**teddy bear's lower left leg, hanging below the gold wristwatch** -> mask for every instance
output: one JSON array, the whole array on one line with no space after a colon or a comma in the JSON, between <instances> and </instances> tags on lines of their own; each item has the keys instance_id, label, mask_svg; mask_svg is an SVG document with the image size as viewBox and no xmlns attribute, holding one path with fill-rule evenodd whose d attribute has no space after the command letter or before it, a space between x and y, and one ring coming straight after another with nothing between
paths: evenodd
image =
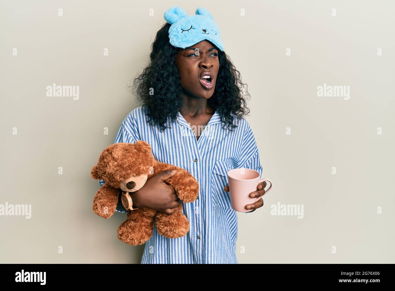
<instances>
[{"instance_id":1,"label":"teddy bear's lower left leg, hanging below the gold wristwatch","mask_svg":"<svg viewBox=\"0 0 395 291\"><path fill-rule=\"evenodd\" d=\"M142 245L152 236L156 211L144 208L128 211L126 220L118 227L118 238L130 245Z\"/></svg>"}]
</instances>

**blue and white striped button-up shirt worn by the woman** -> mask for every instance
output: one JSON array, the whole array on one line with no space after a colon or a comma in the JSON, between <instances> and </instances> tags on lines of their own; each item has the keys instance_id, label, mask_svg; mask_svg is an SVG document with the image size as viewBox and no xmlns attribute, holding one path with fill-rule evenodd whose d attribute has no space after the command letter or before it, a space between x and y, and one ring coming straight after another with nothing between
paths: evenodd
<instances>
[{"instance_id":1,"label":"blue and white striped button-up shirt worn by the woman","mask_svg":"<svg viewBox=\"0 0 395 291\"><path fill-rule=\"evenodd\" d=\"M237 264L237 211L232 209L229 193L223 189L230 169L250 168L262 175L250 125L242 118L236 120L235 131L222 128L224 123L216 111L197 140L180 112L177 122L167 120L171 129L163 132L147 119L145 107L132 110L123 120L114 143L146 141L156 160L186 169L196 178L199 196L195 202L181 202L182 213L190 222L188 234L170 239L159 235L154 226L141 263ZM103 183L100 181L100 186Z\"/></svg>"}]
</instances>

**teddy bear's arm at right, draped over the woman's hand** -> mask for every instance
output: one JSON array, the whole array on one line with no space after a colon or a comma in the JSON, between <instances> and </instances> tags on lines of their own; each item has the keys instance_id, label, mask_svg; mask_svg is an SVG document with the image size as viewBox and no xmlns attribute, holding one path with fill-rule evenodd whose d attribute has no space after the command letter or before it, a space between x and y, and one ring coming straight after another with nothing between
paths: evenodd
<instances>
[{"instance_id":1,"label":"teddy bear's arm at right, draped over the woman's hand","mask_svg":"<svg viewBox=\"0 0 395 291\"><path fill-rule=\"evenodd\" d=\"M174 187L178 198L180 198L182 202L194 202L199 194L199 183L196 181L195 177L185 169L176 167L175 165L161 163L158 161L154 162L155 175L163 171L173 169L176 169L177 173L166 179L166 182Z\"/></svg>"}]
</instances>

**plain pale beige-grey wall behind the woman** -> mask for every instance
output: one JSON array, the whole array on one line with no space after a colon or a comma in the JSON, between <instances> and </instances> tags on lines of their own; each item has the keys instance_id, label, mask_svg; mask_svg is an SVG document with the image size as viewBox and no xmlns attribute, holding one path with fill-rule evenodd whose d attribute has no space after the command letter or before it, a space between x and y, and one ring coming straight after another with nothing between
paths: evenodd
<instances>
[{"instance_id":1,"label":"plain pale beige-grey wall behind the woman","mask_svg":"<svg viewBox=\"0 0 395 291\"><path fill-rule=\"evenodd\" d=\"M174 5L211 12L252 96L274 185L238 213L239 263L393 263L392 1L2 1L0 204L31 204L32 218L0 216L0 261L140 262L144 246L117 238L126 214L94 215L90 169L139 106L126 86ZM53 83L79 86L79 100L47 97ZM317 97L324 83L350 86L350 99ZM303 204L303 219L271 215L278 202Z\"/></svg>"}]
</instances>

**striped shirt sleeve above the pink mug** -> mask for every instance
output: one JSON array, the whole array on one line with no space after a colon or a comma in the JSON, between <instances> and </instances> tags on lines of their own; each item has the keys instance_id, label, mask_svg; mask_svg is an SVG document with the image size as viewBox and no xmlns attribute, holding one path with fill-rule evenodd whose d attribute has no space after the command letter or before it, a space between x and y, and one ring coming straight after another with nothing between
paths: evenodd
<instances>
[{"instance_id":1,"label":"striped shirt sleeve above the pink mug","mask_svg":"<svg viewBox=\"0 0 395 291\"><path fill-rule=\"evenodd\" d=\"M259 155L259 150L258 146L255 141L254 134L252 133L252 129L250 127L250 124L246 122L246 129L243 135L243 144L241 146L241 159L239 162L239 168L245 168L245 169L254 169L259 172L260 176L259 178L261 179L262 177L262 165L261 165L261 160L260 160L260 155ZM244 213L250 213L249 212L244 212Z\"/></svg>"}]
</instances>

